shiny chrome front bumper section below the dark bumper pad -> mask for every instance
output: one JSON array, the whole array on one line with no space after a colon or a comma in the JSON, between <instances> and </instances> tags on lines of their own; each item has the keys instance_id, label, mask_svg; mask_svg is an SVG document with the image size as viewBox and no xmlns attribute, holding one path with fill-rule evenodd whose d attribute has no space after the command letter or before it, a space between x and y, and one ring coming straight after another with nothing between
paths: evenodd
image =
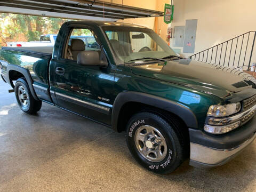
<instances>
[{"instance_id":1,"label":"shiny chrome front bumper section below the dark bumper pad","mask_svg":"<svg viewBox=\"0 0 256 192\"><path fill-rule=\"evenodd\" d=\"M190 142L190 162L196 167L214 167L227 163L256 138L256 133L241 145L231 149L215 149Z\"/></svg>"}]
</instances>

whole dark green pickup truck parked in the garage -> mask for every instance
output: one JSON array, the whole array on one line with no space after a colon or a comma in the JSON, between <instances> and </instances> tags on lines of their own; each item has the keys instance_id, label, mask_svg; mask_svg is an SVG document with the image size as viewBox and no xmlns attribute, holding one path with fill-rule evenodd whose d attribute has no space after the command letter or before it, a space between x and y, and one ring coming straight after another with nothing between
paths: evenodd
<instances>
[{"instance_id":1,"label":"whole dark green pickup truck parked in the garage","mask_svg":"<svg viewBox=\"0 0 256 192\"><path fill-rule=\"evenodd\" d=\"M94 47L75 38L84 35ZM156 173L186 159L222 165L256 137L251 75L180 58L145 27L70 21L54 47L2 47L0 60L25 113L43 101L125 131L133 157Z\"/></svg>"}]
</instances>

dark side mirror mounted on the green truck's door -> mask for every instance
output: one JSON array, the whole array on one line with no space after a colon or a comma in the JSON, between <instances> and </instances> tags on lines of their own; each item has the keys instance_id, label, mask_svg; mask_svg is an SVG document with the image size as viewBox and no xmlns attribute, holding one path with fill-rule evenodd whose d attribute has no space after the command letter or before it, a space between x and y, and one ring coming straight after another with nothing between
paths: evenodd
<instances>
[{"instance_id":1,"label":"dark side mirror mounted on the green truck's door","mask_svg":"<svg viewBox=\"0 0 256 192\"><path fill-rule=\"evenodd\" d=\"M77 64L83 66L99 66L107 67L108 60L103 52L101 51L81 51L77 55Z\"/></svg>"}]
</instances>

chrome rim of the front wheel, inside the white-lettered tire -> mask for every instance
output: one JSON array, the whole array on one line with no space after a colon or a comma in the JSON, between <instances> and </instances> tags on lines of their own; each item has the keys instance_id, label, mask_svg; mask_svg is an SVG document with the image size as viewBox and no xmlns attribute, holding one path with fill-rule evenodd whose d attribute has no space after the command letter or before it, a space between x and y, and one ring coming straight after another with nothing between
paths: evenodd
<instances>
[{"instance_id":1,"label":"chrome rim of the front wheel, inside the white-lettered tire","mask_svg":"<svg viewBox=\"0 0 256 192\"><path fill-rule=\"evenodd\" d=\"M161 162L166 157L166 141L155 127L142 125L135 132L135 145L139 153L150 162Z\"/></svg>"}]
</instances>

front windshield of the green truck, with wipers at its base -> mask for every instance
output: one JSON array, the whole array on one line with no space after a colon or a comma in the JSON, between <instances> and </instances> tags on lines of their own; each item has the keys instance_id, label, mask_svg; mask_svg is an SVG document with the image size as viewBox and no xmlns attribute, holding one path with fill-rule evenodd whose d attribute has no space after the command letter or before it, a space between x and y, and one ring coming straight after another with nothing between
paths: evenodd
<instances>
[{"instance_id":1,"label":"front windshield of the green truck, with wipers at its base","mask_svg":"<svg viewBox=\"0 0 256 192\"><path fill-rule=\"evenodd\" d=\"M159 60L177 54L153 30L138 27L104 26L119 64Z\"/></svg>"}]
</instances>

